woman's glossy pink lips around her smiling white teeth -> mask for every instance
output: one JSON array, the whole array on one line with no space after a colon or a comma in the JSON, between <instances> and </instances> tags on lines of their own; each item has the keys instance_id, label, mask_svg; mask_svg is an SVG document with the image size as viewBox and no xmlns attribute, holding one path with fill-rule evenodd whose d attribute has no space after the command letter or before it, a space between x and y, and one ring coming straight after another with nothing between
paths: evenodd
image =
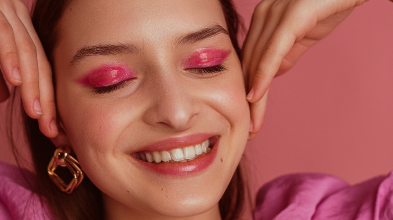
<instances>
[{"instance_id":1,"label":"woman's glossy pink lips around her smiling white teeth","mask_svg":"<svg viewBox=\"0 0 393 220\"><path fill-rule=\"evenodd\" d=\"M146 146L143 148L142 151L158 151L160 150L169 150L173 148L182 148L194 144L201 143L207 139L212 139L213 148L208 154L203 154L199 156L197 159L192 161L184 162L184 163L169 163L169 162L162 162L162 163L149 163L136 157L131 156L135 162L142 165L143 167L151 170L153 172L167 175L167 176L186 176L195 173L199 173L205 169L207 169L215 160L217 151L219 148L219 137L214 136L212 137L208 134L197 134L197 135L190 135L181 138L174 138L174 139L167 139L163 141L156 142L152 145ZM176 144L177 143L177 144ZM170 147L169 147L170 145ZM156 146L156 147L155 147ZM166 146L166 148L163 148Z\"/></svg>"}]
</instances>

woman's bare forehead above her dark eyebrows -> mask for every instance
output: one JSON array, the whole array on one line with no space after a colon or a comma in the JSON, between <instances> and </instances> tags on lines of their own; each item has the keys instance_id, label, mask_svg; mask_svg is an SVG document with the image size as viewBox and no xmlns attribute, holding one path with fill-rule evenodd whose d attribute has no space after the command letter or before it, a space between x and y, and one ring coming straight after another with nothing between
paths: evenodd
<instances>
[{"instance_id":1,"label":"woman's bare forehead above her dark eyebrows","mask_svg":"<svg viewBox=\"0 0 393 220\"><path fill-rule=\"evenodd\" d=\"M226 28L221 4L212 0L74 0L59 24L59 43L74 52L95 43L163 44L211 24Z\"/></svg>"}]
</instances>

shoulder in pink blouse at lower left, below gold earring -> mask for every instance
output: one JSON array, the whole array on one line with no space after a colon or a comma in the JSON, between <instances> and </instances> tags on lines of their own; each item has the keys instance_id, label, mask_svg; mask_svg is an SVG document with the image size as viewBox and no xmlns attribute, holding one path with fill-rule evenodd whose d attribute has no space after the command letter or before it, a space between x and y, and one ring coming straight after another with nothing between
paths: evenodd
<instances>
[{"instance_id":1,"label":"shoulder in pink blouse at lower left, below gold earring","mask_svg":"<svg viewBox=\"0 0 393 220\"><path fill-rule=\"evenodd\" d=\"M0 162L0 216L2 219L49 219L30 181L34 174Z\"/></svg>"}]
</instances>

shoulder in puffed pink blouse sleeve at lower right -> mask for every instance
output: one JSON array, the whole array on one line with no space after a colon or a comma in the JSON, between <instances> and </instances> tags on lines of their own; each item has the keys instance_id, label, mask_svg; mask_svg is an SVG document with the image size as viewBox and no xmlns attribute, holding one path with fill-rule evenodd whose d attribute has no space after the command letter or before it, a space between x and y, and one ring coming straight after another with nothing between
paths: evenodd
<instances>
[{"instance_id":1,"label":"shoulder in puffed pink blouse sleeve at lower right","mask_svg":"<svg viewBox=\"0 0 393 220\"><path fill-rule=\"evenodd\" d=\"M393 219L393 174L350 186L325 174L290 174L258 191L255 219Z\"/></svg>"}]
</instances>

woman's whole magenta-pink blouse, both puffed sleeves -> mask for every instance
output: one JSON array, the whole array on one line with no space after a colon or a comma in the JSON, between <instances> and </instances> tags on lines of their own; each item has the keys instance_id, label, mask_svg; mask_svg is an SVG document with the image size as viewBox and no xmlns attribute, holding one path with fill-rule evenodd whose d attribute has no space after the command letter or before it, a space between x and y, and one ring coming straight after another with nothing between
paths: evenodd
<instances>
[{"instance_id":1,"label":"woman's whole magenta-pink blouse, both puffed sleeves","mask_svg":"<svg viewBox=\"0 0 393 220\"><path fill-rule=\"evenodd\" d=\"M27 180L32 173L22 170ZM52 219L18 167L0 162L0 220ZM325 174L290 174L257 194L256 220L393 219L393 172L349 186Z\"/></svg>"}]
</instances>

